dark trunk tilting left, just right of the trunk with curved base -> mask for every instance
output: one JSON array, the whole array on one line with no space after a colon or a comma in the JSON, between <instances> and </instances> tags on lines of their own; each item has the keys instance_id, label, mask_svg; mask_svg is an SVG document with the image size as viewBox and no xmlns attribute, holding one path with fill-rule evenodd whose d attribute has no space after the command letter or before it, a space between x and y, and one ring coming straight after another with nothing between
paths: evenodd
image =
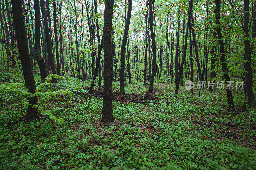
<instances>
[{"instance_id":1,"label":"dark trunk tilting left, just right of the trunk with curved base","mask_svg":"<svg viewBox=\"0 0 256 170\"><path fill-rule=\"evenodd\" d=\"M51 42L51 37L50 37L50 32L49 32L48 19L47 19L47 13L45 11L44 0L40 0L40 5L41 5L42 16L44 19L44 29L45 29L45 38L46 38L48 59L50 61L52 74L56 74L54 58L53 58L53 54L52 54L52 42ZM52 82L55 83L55 81L56 81L56 78L52 78Z\"/></svg>"}]
</instances>

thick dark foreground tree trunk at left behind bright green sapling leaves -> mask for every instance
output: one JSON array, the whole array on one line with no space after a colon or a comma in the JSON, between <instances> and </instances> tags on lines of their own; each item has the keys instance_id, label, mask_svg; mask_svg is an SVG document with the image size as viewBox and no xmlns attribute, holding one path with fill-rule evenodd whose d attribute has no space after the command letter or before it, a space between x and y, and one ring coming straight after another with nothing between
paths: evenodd
<instances>
[{"instance_id":1,"label":"thick dark foreground tree trunk at left behind bright green sapling leaves","mask_svg":"<svg viewBox=\"0 0 256 170\"><path fill-rule=\"evenodd\" d=\"M15 33L17 38L17 44L20 54L20 61L22 66L22 71L25 79L26 88L29 88L30 93L35 93L36 85L33 75L33 68L29 59L28 50L28 39L25 28L25 19L22 10L21 0L12 0L12 13L15 24ZM28 106L26 119L34 120L38 118L38 110L33 108L32 105L38 104L37 96L28 98L30 105Z\"/></svg>"}]
</instances>

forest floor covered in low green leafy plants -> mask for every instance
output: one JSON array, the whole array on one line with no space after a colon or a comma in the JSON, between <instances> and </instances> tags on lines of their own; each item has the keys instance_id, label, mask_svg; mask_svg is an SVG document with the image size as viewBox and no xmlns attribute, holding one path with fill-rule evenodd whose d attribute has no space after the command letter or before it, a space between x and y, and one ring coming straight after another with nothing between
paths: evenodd
<instances>
[{"instance_id":1,"label":"forest floor covered in low green leafy plants","mask_svg":"<svg viewBox=\"0 0 256 170\"><path fill-rule=\"evenodd\" d=\"M35 74L35 81L40 75ZM6 72L0 66L0 84L5 82L24 82L22 70ZM132 82L125 85L126 94L143 100L148 85ZM19 102L0 92L0 169L255 169L255 109L228 110L225 90L201 90L199 97L198 90L191 96L180 86L173 97L175 85L163 82L167 79L156 80L153 96L146 96L164 102L159 107L113 101L114 122L107 124L101 122L99 97L44 100L42 106L65 121L60 124L43 114L26 122ZM45 90L88 93L90 83L62 77ZM113 82L113 93L118 90L119 82ZM241 107L244 91L233 90L233 98L235 108Z\"/></svg>"}]
</instances>

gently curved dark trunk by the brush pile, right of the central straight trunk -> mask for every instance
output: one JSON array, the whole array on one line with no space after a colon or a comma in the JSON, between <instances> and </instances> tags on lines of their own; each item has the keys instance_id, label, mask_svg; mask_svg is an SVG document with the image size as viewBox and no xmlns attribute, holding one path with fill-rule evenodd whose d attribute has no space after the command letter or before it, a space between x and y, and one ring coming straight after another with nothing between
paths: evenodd
<instances>
[{"instance_id":1,"label":"gently curved dark trunk by the brush pile, right of the central straight trunk","mask_svg":"<svg viewBox=\"0 0 256 170\"><path fill-rule=\"evenodd\" d=\"M122 39L121 49L120 49L120 61L121 61L121 68L120 68L120 96L124 98L124 71L125 71L125 43L127 41L129 26L130 26L130 19L131 19L131 12L132 12L132 0L128 0L128 11L127 11L127 19L124 28L124 35ZM127 49L129 50L129 49ZM105 54L104 54L105 55Z\"/></svg>"}]
</instances>

